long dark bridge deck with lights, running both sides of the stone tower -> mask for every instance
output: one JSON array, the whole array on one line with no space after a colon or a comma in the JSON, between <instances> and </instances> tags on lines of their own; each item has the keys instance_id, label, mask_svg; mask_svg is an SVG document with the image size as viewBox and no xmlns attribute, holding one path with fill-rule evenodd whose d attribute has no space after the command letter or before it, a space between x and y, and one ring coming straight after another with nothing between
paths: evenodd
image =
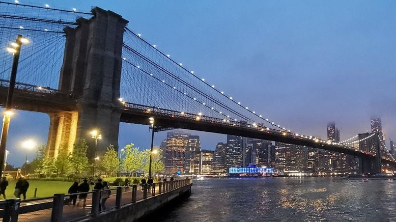
<instances>
[{"instance_id":1,"label":"long dark bridge deck with lights, running both sides of the stone tower","mask_svg":"<svg viewBox=\"0 0 396 222\"><path fill-rule=\"evenodd\" d=\"M8 89L7 80L0 80L0 105L4 106ZM14 108L42 113L70 112L77 110L76 100L72 94L61 93L54 89L41 88L27 84L17 84ZM375 158L374 154L358 149L353 149L344 145L334 145L315 141L302 135L289 132L268 129L260 125L249 125L234 121L224 121L222 119L198 116L196 114L181 113L175 110L168 110L158 107L145 106L122 102L120 109L120 122L150 125L148 118L154 117L156 126L189 129L221 134L231 134L257 138L268 141L277 141L288 144L301 145L312 148L319 148L332 152L345 153L356 157ZM121 106L122 107L122 106ZM382 163L396 167L396 161L382 157Z\"/></svg>"}]
</instances>

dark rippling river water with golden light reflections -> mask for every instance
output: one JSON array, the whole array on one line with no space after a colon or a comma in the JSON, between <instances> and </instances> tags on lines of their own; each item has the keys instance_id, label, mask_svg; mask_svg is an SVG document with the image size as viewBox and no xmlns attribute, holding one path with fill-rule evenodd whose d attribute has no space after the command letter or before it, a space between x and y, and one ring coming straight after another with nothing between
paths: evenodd
<instances>
[{"instance_id":1,"label":"dark rippling river water with golden light reflections","mask_svg":"<svg viewBox=\"0 0 396 222\"><path fill-rule=\"evenodd\" d=\"M396 180L205 178L156 221L396 221Z\"/></svg>"}]
</instances>

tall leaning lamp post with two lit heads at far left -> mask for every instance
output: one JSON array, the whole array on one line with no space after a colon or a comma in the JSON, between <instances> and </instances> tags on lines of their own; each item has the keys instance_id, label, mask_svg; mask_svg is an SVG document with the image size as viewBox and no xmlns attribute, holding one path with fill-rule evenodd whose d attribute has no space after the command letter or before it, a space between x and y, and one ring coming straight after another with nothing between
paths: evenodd
<instances>
[{"instance_id":1,"label":"tall leaning lamp post with two lit heads at far left","mask_svg":"<svg viewBox=\"0 0 396 222\"><path fill-rule=\"evenodd\" d=\"M12 110L11 110L12 95L14 94L16 71L18 68L20 48L22 44L26 44L26 43L29 43L29 40L21 35L18 35L16 37L16 41L12 42L10 44L11 46L7 48L7 51L13 53L13 61L11 68L10 85L8 87L8 93L7 93L6 112L4 112L4 118L3 118L2 137L0 139L0 172L3 172L4 157L6 155L8 129L10 127L10 121L12 115Z\"/></svg>"}]
</instances>

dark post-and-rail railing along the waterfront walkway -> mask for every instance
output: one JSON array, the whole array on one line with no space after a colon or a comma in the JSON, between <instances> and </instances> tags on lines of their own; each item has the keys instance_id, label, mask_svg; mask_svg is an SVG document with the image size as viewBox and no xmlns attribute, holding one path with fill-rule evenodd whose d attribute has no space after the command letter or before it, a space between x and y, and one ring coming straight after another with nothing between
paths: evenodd
<instances>
[{"instance_id":1,"label":"dark post-and-rail railing along the waterfront walkway","mask_svg":"<svg viewBox=\"0 0 396 222\"><path fill-rule=\"evenodd\" d=\"M29 200L9 199L0 201L0 218L3 218L3 221L48 220L49 218L50 221L79 221L109 210L119 209L126 204L155 198L191 184L192 179L181 179L153 184L118 186L89 192L58 193L53 197ZM80 195L86 196L87 206L82 208L72 205L73 198L76 198L78 203L83 201Z\"/></svg>"}]
</instances>

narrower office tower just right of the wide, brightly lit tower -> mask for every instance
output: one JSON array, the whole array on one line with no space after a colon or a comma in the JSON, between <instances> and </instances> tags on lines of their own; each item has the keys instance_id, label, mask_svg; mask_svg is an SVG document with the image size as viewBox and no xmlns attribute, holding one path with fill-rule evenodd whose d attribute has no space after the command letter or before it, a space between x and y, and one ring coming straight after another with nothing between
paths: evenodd
<instances>
[{"instance_id":1,"label":"narrower office tower just right of the wide, brightly lit tower","mask_svg":"<svg viewBox=\"0 0 396 222\"><path fill-rule=\"evenodd\" d=\"M197 166L194 168L194 162L199 162L199 154L201 151L201 143L200 143L200 136L197 135L190 135L188 137L188 143L186 147L185 153L185 164L184 164L184 173L186 174L197 174L198 169Z\"/></svg>"}]
</instances>

